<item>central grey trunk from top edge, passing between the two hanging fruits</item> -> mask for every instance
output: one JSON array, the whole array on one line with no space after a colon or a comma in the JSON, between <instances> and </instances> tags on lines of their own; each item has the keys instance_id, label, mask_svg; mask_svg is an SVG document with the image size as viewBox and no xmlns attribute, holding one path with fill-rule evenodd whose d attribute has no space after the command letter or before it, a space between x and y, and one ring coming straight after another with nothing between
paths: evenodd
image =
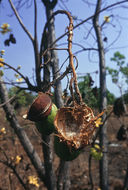
<instances>
[{"instance_id":1,"label":"central grey trunk from top edge, passing between the two hanging fruits","mask_svg":"<svg viewBox=\"0 0 128 190\"><path fill-rule=\"evenodd\" d=\"M42 0L46 7L46 16L47 16L47 21L53 14L53 8L55 7L57 1L49 1L49 0ZM55 26L54 26L54 19L52 19L48 25L48 34L49 34L49 40L48 40L48 47L50 47L51 44L56 40L55 37ZM57 51L54 50L56 45L54 45L51 50L51 60L50 60L50 65L52 67L52 73L53 73L53 79L56 79L60 76L59 73L59 59L57 55ZM62 100L62 88L61 88L61 82L57 81L55 83L55 103L58 108L63 106L63 100ZM69 162L64 162L63 160L60 160L60 165L59 165L59 176L57 180L57 189L58 190L68 190L70 187L70 164Z\"/></svg>"}]
</instances>

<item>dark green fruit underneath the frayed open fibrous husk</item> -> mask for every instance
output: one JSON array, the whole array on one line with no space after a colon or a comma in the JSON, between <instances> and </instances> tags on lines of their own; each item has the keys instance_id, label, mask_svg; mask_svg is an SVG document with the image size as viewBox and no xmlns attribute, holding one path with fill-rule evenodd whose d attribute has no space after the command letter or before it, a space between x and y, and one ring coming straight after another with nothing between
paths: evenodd
<instances>
[{"instance_id":1,"label":"dark green fruit underneath the frayed open fibrous husk","mask_svg":"<svg viewBox=\"0 0 128 190\"><path fill-rule=\"evenodd\" d=\"M72 161L81 153L81 150L69 147L66 142L60 141L58 136L54 137L54 150L57 156L64 161Z\"/></svg>"}]
</instances>

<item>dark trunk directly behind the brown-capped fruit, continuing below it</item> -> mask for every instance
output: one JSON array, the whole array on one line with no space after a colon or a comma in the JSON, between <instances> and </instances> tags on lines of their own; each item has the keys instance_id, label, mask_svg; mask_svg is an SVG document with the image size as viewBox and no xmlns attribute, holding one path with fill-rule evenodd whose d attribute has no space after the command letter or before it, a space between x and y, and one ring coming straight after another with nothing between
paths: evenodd
<instances>
[{"instance_id":1,"label":"dark trunk directly behind the brown-capped fruit, continuing below it","mask_svg":"<svg viewBox=\"0 0 128 190\"><path fill-rule=\"evenodd\" d=\"M48 32L45 34L45 41L43 44L43 50L45 51L48 48ZM44 55L44 63L48 62L50 58L49 51ZM43 70L43 86L44 92L47 91L47 85L50 82L50 63L44 64L44 70ZM45 178L47 183L48 190L56 190L56 177L55 172L53 168L53 139L50 135L44 135L42 134L42 148L43 148L43 155L44 155L44 167L45 167Z\"/></svg>"}]
</instances>

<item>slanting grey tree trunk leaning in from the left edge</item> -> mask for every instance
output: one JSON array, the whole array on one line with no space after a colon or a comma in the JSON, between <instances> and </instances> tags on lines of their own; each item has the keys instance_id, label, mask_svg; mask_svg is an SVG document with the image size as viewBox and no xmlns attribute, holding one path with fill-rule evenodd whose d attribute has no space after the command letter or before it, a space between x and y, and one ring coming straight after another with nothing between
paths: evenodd
<instances>
[{"instance_id":1,"label":"slanting grey tree trunk leaning in from the left edge","mask_svg":"<svg viewBox=\"0 0 128 190\"><path fill-rule=\"evenodd\" d=\"M8 101L8 92L4 81L0 77L0 98L1 102L5 103L3 106L4 111L6 113L7 120L10 123L10 126L14 129L15 133L17 134L25 152L27 153L28 157L30 158L33 166L35 167L40 179L45 183L44 177L44 166L41 162L37 152L35 151L33 145L31 144L29 138L27 137L24 129L19 125L16 115L14 113L14 109ZM45 183L46 184L46 183Z\"/></svg>"}]
</instances>

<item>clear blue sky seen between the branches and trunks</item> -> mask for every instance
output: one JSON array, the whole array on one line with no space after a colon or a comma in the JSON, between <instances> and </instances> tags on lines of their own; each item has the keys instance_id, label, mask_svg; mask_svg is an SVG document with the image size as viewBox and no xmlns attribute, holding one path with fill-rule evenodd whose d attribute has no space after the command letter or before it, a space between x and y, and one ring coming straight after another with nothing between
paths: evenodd
<instances>
[{"instance_id":1,"label":"clear blue sky seen between the branches and trunks","mask_svg":"<svg viewBox=\"0 0 128 190\"><path fill-rule=\"evenodd\" d=\"M5 50L5 62L12 65L13 67L17 68L18 65L21 65L21 72L28 76L29 78L32 78L33 76L33 70L34 70L34 54L33 54L33 48L30 40L28 39L27 35L22 30L21 26L19 25L16 17L12 15L12 10L10 8L10 5L8 3L8 0L2 1L2 5L0 5L0 25L3 23L9 23L12 29L12 33L14 34L16 38L16 45L11 44L10 47L4 46L4 40L8 38L9 34L1 35L0 34L0 50ZM14 1L13 1L14 2ZM40 42L41 34L43 31L43 27L46 21L45 16L45 9L43 4L40 0L38 2L38 40ZM67 8L71 11L72 15L76 17L78 20L74 20L74 25L80 22L80 20L86 19L89 16L94 14L95 6L88 6L84 3L82 0L70 0L64 1L66 7L64 7L64 4L59 1L58 5L56 6L55 10ZM95 3L95 0L93 1ZM112 1L104 1L103 8L109 4L114 3L115 0ZM128 5L128 3L127 3ZM19 15L21 16L24 25L27 27L27 29L30 31L31 34L33 34L33 6L31 8L23 8L19 11ZM100 15L100 23L102 24L104 21L104 16L110 16L113 15L110 18L110 23L104 25L103 29L103 36L108 38L108 42L104 43L105 48L109 47L109 44L113 42L113 40L116 39L116 37L119 34L119 31L121 30L121 34L118 37L118 40L116 43L114 43L110 48L109 51L106 53L106 65L114 67L114 64L110 61L110 58L113 56L115 51L120 51L122 54L125 55L126 61L128 60L128 12L127 9L121 8L121 5L118 6L118 8L110 9L109 11L105 11ZM59 37L61 34L63 34L66 30L66 27L68 25L68 19L66 16L61 15L57 16L55 19L55 26L56 26L56 37ZM94 39L94 30L91 29L91 33L88 36L87 39L86 36L91 29L91 20L87 23L85 23L83 26L77 28L74 30L74 36L73 36L73 42L82 44L85 48L91 48L91 47L97 47L96 46L96 40ZM67 37L64 37L61 41L58 42L58 44L62 44L67 42ZM64 46L62 46L64 47ZM66 47L66 46L65 46ZM73 45L73 52L76 52L80 50L80 48L76 45ZM59 60L60 65L63 63L63 61L67 58L67 52L59 51ZM88 59L90 58L90 59ZM99 64L98 64L98 56L97 52L88 52L84 51L80 54L77 54L78 59L78 69L77 73L93 73L96 70L99 70ZM65 64L64 68L68 65L68 62ZM64 71L64 68L62 71ZM14 78L14 72L7 70L5 72L5 77L9 80L15 80ZM79 75L78 75L79 76ZM95 85L99 85L99 78L97 75L92 75L93 79L95 80ZM33 81L32 81L33 82ZM66 86L66 79L62 82L63 88ZM113 92L116 96L119 96L119 90L118 88L111 83L110 77L107 77L107 87L108 89ZM126 87L124 88L126 89Z\"/></svg>"}]
</instances>

